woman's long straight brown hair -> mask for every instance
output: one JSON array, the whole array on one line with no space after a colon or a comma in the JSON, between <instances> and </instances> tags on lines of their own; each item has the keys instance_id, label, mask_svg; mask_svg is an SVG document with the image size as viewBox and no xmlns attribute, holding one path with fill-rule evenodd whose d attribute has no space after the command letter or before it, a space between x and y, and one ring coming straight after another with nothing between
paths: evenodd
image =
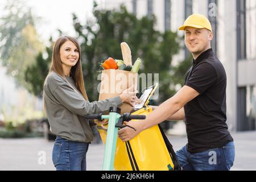
<instances>
[{"instance_id":1,"label":"woman's long straight brown hair","mask_svg":"<svg viewBox=\"0 0 256 182\"><path fill-rule=\"evenodd\" d=\"M84 77L82 76L81 47L79 46L79 43L77 42L77 40L75 38L72 38L71 36L61 36L60 38L58 38L56 40L56 42L53 46L52 62L51 62L51 67L49 69L49 73L55 72L66 80L64 72L63 72L63 68L61 65L62 63L60 60L60 47L68 40L73 42L75 44L75 46L77 47L77 49L79 50L79 60L77 61L76 65L71 68L71 75L72 75L73 80L75 81L76 88L81 92L84 99L88 100L88 97L87 97L87 94L85 91L85 87L84 87ZM49 73L48 73L48 75L49 75ZM48 75L47 75L47 77L48 77ZM46 84L47 77L46 77L46 80L44 80L44 84Z\"/></svg>"}]
</instances>

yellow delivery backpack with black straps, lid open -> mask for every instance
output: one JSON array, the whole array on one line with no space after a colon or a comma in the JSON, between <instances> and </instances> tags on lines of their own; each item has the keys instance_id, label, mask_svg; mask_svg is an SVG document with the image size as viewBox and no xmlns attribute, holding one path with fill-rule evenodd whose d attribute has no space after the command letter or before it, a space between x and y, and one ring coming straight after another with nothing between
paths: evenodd
<instances>
[{"instance_id":1,"label":"yellow delivery backpack with black straps, lid open","mask_svg":"<svg viewBox=\"0 0 256 182\"><path fill-rule=\"evenodd\" d=\"M131 114L148 115L152 112L152 107L147 106L147 104L154 90L145 102L144 107ZM97 124L97 130L104 144L106 143L107 129L107 122ZM127 142L117 138L114 169L117 171L172 171L180 169L180 166L172 145L162 128L160 125L155 125L143 130Z\"/></svg>"}]
</instances>

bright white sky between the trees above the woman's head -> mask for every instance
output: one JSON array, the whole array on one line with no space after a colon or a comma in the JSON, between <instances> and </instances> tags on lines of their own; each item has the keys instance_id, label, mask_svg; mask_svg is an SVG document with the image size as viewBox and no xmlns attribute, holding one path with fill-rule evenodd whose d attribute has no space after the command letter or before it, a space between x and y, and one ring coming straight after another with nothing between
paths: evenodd
<instances>
[{"instance_id":1,"label":"bright white sky between the trees above the woman's head","mask_svg":"<svg viewBox=\"0 0 256 182\"><path fill-rule=\"evenodd\" d=\"M32 13L42 17L36 23L40 38L48 42L50 36L57 38L59 28L66 35L75 36L73 30L72 13L75 13L84 23L86 18L92 17L93 0L23 0L32 7Z\"/></svg>"}]
</instances>

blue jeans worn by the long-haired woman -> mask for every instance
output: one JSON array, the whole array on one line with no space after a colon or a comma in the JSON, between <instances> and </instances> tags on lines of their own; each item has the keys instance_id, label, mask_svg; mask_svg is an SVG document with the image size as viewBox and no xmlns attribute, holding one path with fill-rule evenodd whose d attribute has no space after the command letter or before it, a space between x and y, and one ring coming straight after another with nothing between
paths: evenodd
<instances>
[{"instance_id":1,"label":"blue jeans worn by the long-haired woman","mask_svg":"<svg viewBox=\"0 0 256 182\"><path fill-rule=\"evenodd\" d=\"M52 162L57 171L86 171L86 152L89 143L72 142L57 137L53 150Z\"/></svg>"}]
</instances>

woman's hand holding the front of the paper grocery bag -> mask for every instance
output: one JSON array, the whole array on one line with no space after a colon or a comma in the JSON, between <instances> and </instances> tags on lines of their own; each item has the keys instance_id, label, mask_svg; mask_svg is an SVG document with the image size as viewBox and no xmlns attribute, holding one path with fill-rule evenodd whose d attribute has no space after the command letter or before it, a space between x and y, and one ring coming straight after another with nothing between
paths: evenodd
<instances>
[{"instance_id":1,"label":"woman's hand holding the front of the paper grocery bag","mask_svg":"<svg viewBox=\"0 0 256 182\"><path fill-rule=\"evenodd\" d=\"M121 100L131 106L140 103L141 101L136 97L137 90L135 91L134 86L123 90L119 95Z\"/></svg>"}]
</instances>

